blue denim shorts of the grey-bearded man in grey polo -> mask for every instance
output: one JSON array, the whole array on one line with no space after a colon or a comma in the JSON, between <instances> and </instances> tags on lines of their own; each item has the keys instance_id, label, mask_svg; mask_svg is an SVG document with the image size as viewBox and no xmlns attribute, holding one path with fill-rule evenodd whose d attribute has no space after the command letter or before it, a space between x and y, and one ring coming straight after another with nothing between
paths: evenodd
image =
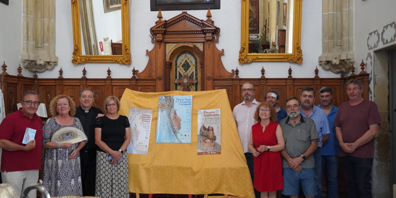
<instances>
[{"instance_id":1,"label":"blue denim shorts of the grey-bearded man in grey polo","mask_svg":"<svg viewBox=\"0 0 396 198\"><path fill-rule=\"evenodd\" d=\"M283 168L282 194L298 195L300 182L305 196L314 196L317 193L313 168L303 168L300 172L296 172L292 168Z\"/></svg>"}]
</instances>

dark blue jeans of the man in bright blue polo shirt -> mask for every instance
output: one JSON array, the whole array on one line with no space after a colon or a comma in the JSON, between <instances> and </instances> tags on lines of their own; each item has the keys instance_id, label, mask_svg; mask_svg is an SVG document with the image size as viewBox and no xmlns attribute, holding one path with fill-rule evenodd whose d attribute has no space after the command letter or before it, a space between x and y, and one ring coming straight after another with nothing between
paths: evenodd
<instances>
[{"instance_id":1,"label":"dark blue jeans of the man in bright blue polo shirt","mask_svg":"<svg viewBox=\"0 0 396 198\"><path fill-rule=\"evenodd\" d=\"M326 166L327 172L327 191L329 192L329 198L338 197L338 156L337 155L322 155L322 177L323 169Z\"/></svg>"}]
</instances>

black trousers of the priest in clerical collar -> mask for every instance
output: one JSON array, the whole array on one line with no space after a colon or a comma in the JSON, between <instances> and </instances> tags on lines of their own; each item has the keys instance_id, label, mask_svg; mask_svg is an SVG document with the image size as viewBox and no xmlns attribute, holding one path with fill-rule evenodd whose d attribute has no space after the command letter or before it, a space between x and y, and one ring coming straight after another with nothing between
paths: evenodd
<instances>
[{"instance_id":1,"label":"black trousers of the priest in clerical collar","mask_svg":"<svg viewBox=\"0 0 396 198\"><path fill-rule=\"evenodd\" d=\"M80 150L83 196L95 196L96 150Z\"/></svg>"}]
</instances>

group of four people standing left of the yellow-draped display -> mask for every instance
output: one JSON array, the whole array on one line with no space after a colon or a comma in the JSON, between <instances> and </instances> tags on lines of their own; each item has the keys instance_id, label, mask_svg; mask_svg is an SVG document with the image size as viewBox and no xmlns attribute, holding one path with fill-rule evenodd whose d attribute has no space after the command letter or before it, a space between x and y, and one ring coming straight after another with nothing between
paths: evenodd
<instances>
[{"instance_id":1,"label":"group of four people standing left of the yellow-draped display","mask_svg":"<svg viewBox=\"0 0 396 198\"><path fill-rule=\"evenodd\" d=\"M80 106L72 98L57 95L49 104L52 115L44 124L36 114L40 95L27 91L22 107L0 125L2 151L1 175L18 196L38 181L41 150L44 147L43 185L51 196L129 197L128 156L130 126L126 116L118 114L120 101L109 96L102 110L92 107L95 93L82 89ZM51 142L59 129L74 127L86 134L78 143ZM35 129L34 140L22 144L27 128ZM32 190L29 197L36 197Z\"/></svg>"}]
</instances>

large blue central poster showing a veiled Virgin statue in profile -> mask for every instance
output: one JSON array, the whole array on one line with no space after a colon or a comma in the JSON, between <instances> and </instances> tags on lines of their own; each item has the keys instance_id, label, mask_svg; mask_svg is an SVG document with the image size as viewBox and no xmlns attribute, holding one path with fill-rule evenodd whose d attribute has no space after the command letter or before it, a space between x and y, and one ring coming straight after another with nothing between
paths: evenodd
<instances>
[{"instance_id":1,"label":"large blue central poster showing a veiled Virgin statue in profile","mask_svg":"<svg viewBox=\"0 0 396 198\"><path fill-rule=\"evenodd\" d=\"M191 143L192 95L160 95L157 143Z\"/></svg>"}]
</instances>

